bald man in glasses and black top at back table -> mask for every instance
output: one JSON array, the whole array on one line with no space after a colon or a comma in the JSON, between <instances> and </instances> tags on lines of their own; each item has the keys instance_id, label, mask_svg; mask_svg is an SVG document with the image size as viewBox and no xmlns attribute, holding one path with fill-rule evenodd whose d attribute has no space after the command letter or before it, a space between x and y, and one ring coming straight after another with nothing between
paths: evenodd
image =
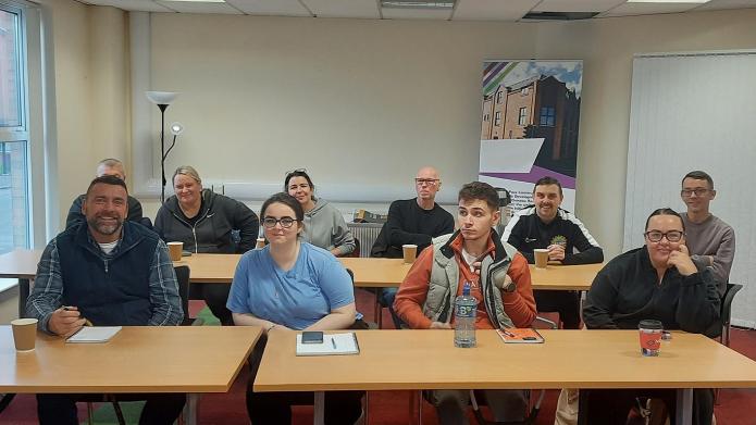
<instances>
[{"instance_id":1,"label":"bald man in glasses and black top at back table","mask_svg":"<svg viewBox=\"0 0 756 425\"><path fill-rule=\"evenodd\" d=\"M441 190L441 177L436 168L423 166L414 177L414 199L392 202L388 208L388 221L384 224L370 257L400 259L401 246L417 245L418 253L431 245L431 239L454 232L454 217L435 201ZM398 329L402 323L396 316L392 305L396 288L383 288L381 304L388 307Z\"/></svg>"}]
</instances>

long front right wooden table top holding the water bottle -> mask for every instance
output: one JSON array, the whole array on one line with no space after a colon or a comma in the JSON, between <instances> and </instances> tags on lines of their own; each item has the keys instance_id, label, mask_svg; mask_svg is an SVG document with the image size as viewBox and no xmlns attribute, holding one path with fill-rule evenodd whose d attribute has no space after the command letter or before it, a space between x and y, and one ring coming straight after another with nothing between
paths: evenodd
<instances>
[{"instance_id":1,"label":"long front right wooden table top holding the water bottle","mask_svg":"<svg viewBox=\"0 0 756 425\"><path fill-rule=\"evenodd\" d=\"M545 343L505 345L479 330L462 349L453 330L361 330L358 355L299 358L293 333L273 332L255 390L756 387L756 362L702 335L644 358L636 330L540 332Z\"/></svg>"}]
</instances>

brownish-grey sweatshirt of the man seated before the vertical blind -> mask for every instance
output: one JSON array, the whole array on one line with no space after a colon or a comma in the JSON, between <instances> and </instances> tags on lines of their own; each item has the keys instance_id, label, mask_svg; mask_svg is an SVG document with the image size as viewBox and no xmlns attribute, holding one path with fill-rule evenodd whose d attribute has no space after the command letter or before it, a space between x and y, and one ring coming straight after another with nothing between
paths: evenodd
<instances>
[{"instance_id":1,"label":"brownish-grey sweatshirt of the man seated before the vertical blind","mask_svg":"<svg viewBox=\"0 0 756 425\"><path fill-rule=\"evenodd\" d=\"M691 222L687 214L680 215L685 223L685 245L691 252L691 259L701 270L709 265L707 257L714 257L714 278L719 293L724 293L730 279L732 259L735 257L735 230L715 215L709 215L697 224Z\"/></svg>"}]
</instances>

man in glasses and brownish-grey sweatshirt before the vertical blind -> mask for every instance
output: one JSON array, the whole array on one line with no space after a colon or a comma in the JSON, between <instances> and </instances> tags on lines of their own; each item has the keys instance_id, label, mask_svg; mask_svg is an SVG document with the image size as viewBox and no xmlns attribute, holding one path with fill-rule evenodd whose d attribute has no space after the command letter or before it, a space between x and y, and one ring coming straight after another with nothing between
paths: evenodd
<instances>
[{"instance_id":1,"label":"man in glasses and brownish-grey sweatshirt before the vertical blind","mask_svg":"<svg viewBox=\"0 0 756 425\"><path fill-rule=\"evenodd\" d=\"M705 172L692 171L682 178L680 197L687 205L682 214L685 245L698 267L711 267L719 293L723 295L735 257L735 230L709 212L716 196L714 180Z\"/></svg>"}]
</instances>

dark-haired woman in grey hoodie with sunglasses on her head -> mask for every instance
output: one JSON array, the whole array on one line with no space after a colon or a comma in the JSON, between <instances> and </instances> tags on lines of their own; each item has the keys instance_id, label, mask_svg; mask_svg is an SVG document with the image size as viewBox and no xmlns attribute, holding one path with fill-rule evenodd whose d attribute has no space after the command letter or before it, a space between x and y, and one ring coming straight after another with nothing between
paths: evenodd
<instances>
[{"instance_id":1,"label":"dark-haired woman in grey hoodie with sunglasses on her head","mask_svg":"<svg viewBox=\"0 0 756 425\"><path fill-rule=\"evenodd\" d=\"M305 210L302 239L337 257L351 253L355 250L355 238L344 216L324 199L315 198L314 190L315 186L307 170L286 173L284 191L295 197Z\"/></svg>"}]
</instances>

